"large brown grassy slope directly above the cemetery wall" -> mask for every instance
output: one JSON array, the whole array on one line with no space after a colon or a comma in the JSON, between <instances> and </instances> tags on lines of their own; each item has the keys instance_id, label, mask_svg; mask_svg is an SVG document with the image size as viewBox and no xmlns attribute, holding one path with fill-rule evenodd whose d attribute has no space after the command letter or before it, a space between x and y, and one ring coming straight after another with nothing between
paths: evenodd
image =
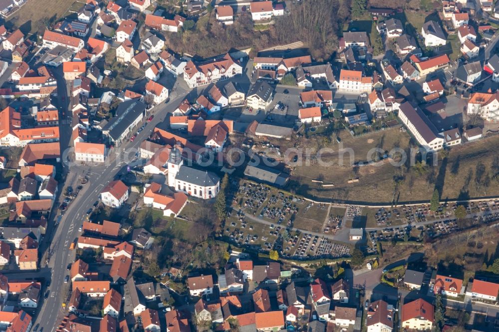
<instances>
[{"instance_id":1,"label":"large brown grassy slope directly above the cemetery wall","mask_svg":"<svg viewBox=\"0 0 499 332\"><path fill-rule=\"evenodd\" d=\"M342 133L340 137L344 147L354 151L354 161L365 160L367 151L371 148L377 146L383 150L390 150L395 146L405 148L409 142L408 135L399 132L398 129L356 139L349 138L347 133ZM356 170L348 166L350 162L348 154L345 154L344 165L339 166L338 144L334 144L331 148L336 152L330 160L323 158L326 162L332 161L331 166L299 166L294 170L292 179L300 183L296 187L297 193L339 200L366 202L429 200L436 186L441 191L442 198L499 195L499 185L495 179L488 187L477 186L475 182L478 163L484 164L485 174L489 174L491 178L494 175L491 166L498 153L498 144L499 137L492 137L455 147L449 152L446 161L442 160L440 154L438 165L429 167L424 174L417 174L412 167L396 167L389 163L381 166L364 166ZM334 186L323 189L311 182L320 176L324 182L334 183ZM346 179L353 177L358 177L359 182L346 183Z\"/></svg>"}]
</instances>

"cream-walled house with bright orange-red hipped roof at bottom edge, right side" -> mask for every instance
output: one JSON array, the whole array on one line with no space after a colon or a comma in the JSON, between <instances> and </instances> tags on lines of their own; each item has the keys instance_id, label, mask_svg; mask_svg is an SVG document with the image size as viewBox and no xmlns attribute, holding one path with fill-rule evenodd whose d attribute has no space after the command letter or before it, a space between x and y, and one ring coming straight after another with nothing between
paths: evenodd
<instances>
[{"instance_id":1,"label":"cream-walled house with bright orange-red hipped roof at bottom edge, right side","mask_svg":"<svg viewBox=\"0 0 499 332\"><path fill-rule=\"evenodd\" d=\"M435 308L423 299L417 299L402 306L402 324L410 331L431 331Z\"/></svg>"}]
</instances>

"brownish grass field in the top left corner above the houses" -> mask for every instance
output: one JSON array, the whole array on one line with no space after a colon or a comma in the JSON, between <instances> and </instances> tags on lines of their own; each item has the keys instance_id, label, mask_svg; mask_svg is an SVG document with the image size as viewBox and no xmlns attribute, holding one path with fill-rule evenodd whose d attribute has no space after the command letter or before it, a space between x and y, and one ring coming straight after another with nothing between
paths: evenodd
<instances>
[{"instance_id":1,"label":"brownish grass field in the top left corner above the houses","mask_svg":"<svg viewBox=\"0 0 499 332\"><path fill-rule=\"evenodd\" d=\"M7 19L7 26L20 28L24 33L43 32L45 21L56 22L67 10L75 6L75 0L30 0ZM83 3L80 3L83 5Z\"/></svg>"}]
</instances>

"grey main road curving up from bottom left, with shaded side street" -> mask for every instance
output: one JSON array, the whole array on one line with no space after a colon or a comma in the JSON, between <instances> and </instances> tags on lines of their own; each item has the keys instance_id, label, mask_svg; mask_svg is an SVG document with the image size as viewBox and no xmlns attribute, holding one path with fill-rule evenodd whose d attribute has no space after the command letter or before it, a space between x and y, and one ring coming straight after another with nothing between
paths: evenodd
<instances>
[{"instance_id":1,"label":"grey main road curving up from bottom left, with shaded side street","mask_svg":"<svg viewBox=\"0 0 499 332\"><path fill-rule=\"evenodd\" d=\"M62 113L65 112L67 119L67 103L69 98L67 96L66 82L60 75L60 72L59 74L56 74L56 78L58 83L58 100L59 105L61 105L59 116L60 119L64 119ZM120 148L111 151L108 156L108 162L105 163L104 166L68 166L63 163L63 174L67 179L66 185L70 185L68 183L69 179L77 180L78 177L83 174L88 176L88 183L84 185L78 196L73 199L67 207L60 224L57 229L55 229L55 233L49 226L48 234L53 235L48 253L50 258L48 268L51 269L50 295L48 299L43 300L34 324L34 326L39 324L39 329L43 328L44 332L54 331L59 325L60 320L65 315L61 305L67 298L70 284L65 284L63 280L68 274L66 266L69 263L74 262L75 258L75 253L74 251L69 250L69 245L77 236L80 235L78 228L82 224L83 218L86 216L86 211L92 208L93 203L99 198L102 188L108 182L113 180L118 172L126 171L127 163L125 160L127 160L128 155L135 155L140 143L147 139L154 127L164 120L167 113L171 113L175 110L178 104L188 93L188 91L182 89L178 90L180 91L176 91L172 94L172 100L168 104L160 104L151 110L151 112L155 114L154 119L150 123L147 123L147 126L142 132L138 133L137 138L133 142L128 141ZM140 125L141 124L139 124L138 127ZM67 147L69 147L71 128L67 121L61 121L59 126L61 132L61 152L63 152ZM64 156L65 158L64 154L61 154L61 156ZM61 161L63 161L62 157ZM53 225L53 223L51 222L50 225ZM42 264L44 264L44 262L42 262ZM46 269L44 271L46 271ZM45 290L43 290L43 292L45 292Z\"/></svg>"}]
</instances>

